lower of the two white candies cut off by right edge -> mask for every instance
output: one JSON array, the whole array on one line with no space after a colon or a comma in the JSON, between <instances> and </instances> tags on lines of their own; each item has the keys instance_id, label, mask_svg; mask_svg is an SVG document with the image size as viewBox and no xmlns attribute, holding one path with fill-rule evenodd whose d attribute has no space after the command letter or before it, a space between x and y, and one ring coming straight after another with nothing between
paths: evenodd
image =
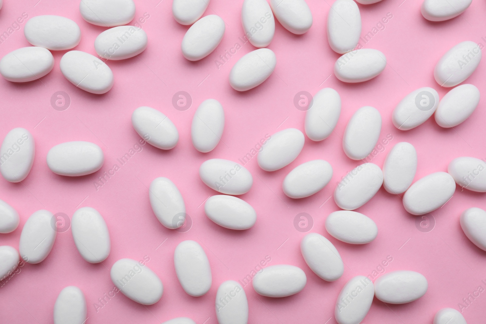
<instances>
[{"instance_id":1,"label":"lower of the two white candies cut off by right edge","mask_svg":"<svg viewBox=\"0 0 486 324\"><path fill-rule=\"evenodd\" d=\"M468 239L486 251L486 211L477 207L466 209L461 214L460 223Z\"/></svg>"}]
</instances>

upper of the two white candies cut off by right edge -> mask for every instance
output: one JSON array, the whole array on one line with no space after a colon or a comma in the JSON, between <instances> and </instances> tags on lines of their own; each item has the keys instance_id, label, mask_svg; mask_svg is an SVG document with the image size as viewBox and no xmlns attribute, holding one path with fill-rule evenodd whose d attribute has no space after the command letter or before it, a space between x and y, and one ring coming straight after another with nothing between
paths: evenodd
<instances>
[{"instance_id":1,"label":"upper of the two white candies cut off by right edge","mask_svg":"<svg viewBox=\"0 0 486 324\"><path fill-rule=\"evenodd\" d=\"M462 188L486 192L486 163L475 157L462 156L449 163L447 172Z\"/></svg>"}]
</instances>

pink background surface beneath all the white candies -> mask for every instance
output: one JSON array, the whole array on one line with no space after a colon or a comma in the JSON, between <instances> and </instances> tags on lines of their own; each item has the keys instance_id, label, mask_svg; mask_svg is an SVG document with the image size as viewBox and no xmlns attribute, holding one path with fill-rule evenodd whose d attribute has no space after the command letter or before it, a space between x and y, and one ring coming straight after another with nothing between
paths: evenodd
<instances>
[{"instance_id":1,"label":"pink background surface beneath all the white candies","mask_svg":"<svg viewBox=\"0 0 486 324\"><path fill-rule=\"evenodd\" d=\"M149 37L146 51L139 57L108 62L115 76L115 85L105 95L92 95L70 84L59 70L65 51L53 52L55 67L42 79L26 84L13 84L0 78L0 138L14 127L24 127L36 142L35 162L29 176L20 184L1 179L1 199L15 207L20 225L10 234L0 235L0 245L18 249L21 229L27 218L38 209L72 216L83 206L96 208L107 222L112 250L102 264L89 264L77 252L70 229L58 233L51 254L40 264L26 264L20 272L0 287L0 323L52 323L53 305L66 286L78 286L85 293L87 323L161 323L178 316L191 317L198 324L217 323L214 309L216 290L223 281L241 280L265 256L268 265L292 264L307 274L307 286L300 293L272 299L258 295L251 285L244 287L249 304L249 323L336 323L334 305L347 280L355 275L374 276L375 270L414 270L424 274L429 290L419 300L405 305L385 305L376 298L364 323L432 323L442 307L462 310L469 324L484 323L486 318L486 252L473 245L462 232L459 215L466 208L486 208L485 194L457 187L454 196L433 212L432 231L417 230L417 217L408 214L400 197L383 188L357 211L372 218L379 234L373 242L352 246L340 242L326 232L325 218L338 210L331 195L336 183L359 161L347 158L341 138L347 120L361 106L371 105L382 113L380 138L393 139L372 159L382 167L386 154L396 143L408 141L418 153L415 180L435 171L447 171L448 163L458 156L486 158L484 98L471 118L454 129L439 127L434 118L411 131L398 131L391 122L395 105L409 92L422 86L435 88L440 97L447 92L434 81L437 60L455 44L472 40L486 45L486 3L473 1L462 15L450 21L432 23L420 14L420 1L384 0L377 4L359 5L362 35L391 13L393 17L363 44L382 51L388 65L376 79L363 84L344 84L332 72L339 55L331 51L326 36L330 2L309 0L314 23L310 31L297 36L278 22L269 48L277 55L277 68L259 87L240 93L231 88L228 75L231 67L245 53L254 50L243 44L241 5L243 0L213 0L208 14L220 15L226 22L221 44L207 58L189 62L182 56L180 44L187 26L172 17L170 0L136 1L136 19L150 15L142 24ZM7 31L22 13L60 15L76 21L82 30L76 50L96 55L93 42L105 28L91 25L79 13L79 1L6 0L0 10L0 32ZM131 24L135 22L132 21ZM29 46L23 26L0 44L0 56L19 47ZM14 25L14 27L16 27ZM18 29L18 28L17 28ZM226 64L215 61L226 50L241 45ZM229 56L228 56L229 57ZM486 94L485 63L481 63L467 83ZM297 159L284 169L262 171L251 159L245 167L253 174L251 190L241 196L258 214L256 225L236 232L211 222L204 214L203 202L216 192L199 179L198 169L209 158L237 161L250 152L265 134L288 127L303 131L305 112L293 104L299 91L315 94L323 87L336 89L343 109L335 132L322 142L306 138ZM50 100L56 91L69 94L71 104L65 111L54 110ZM192 106L186 111L174 109L172 97L187 91ZM210 153L199 153L191 144L191 120L200 102L208 98L220 101L225 108L226 126L222 141ZM142 146L125 165L117 158L129 152L140 137L131 125L131 114L139 106L154 107L169 116L177 126L180 139L170 151L150 145ZM59 143L85 140L98 144L104 151L102 169L94 174L69 178L52 173L46 164L49 149ZM384 150L384 151L383 151ZM284 176L300 163L322 158L330 162L334 175L330 184L312 197L292 200L281 189ZM101 188L95 181L104 171L118 164L120 170ZM152 212L148 186L159 176L169 177L180 189L192 227L185 233L163 227ZM345 265L344 275L335 282L318 278L305 264L300 253L300 240L305 235L294 227L294 218L305 212L312 216L312 232L324 235L336 246ZM182 290L174 271L175 246L193 239L206 251L212 269L213 284L203 297L191 297ZM103 307L95 307L98 299L113 290L109 270L120 258L141 260L150 257L147 266L161 278L164 294L153 306L144 307L116 294ZM380 268L383 260L393 260ZM18 272L18 271L17 271ZM375 273L376 276L381 275ZM484 280L484 281L482 281ZM482 289L479 289L482 287ZM479 289L479 290L478 290ZM481 293L479 292L481 291ZM474 299L469 297L476 294ZM469 305L463 298L469 298ZM459 307L462 303L463 307ZM101 304L98 304L101 305ZM326 322L328 321L328 322Z\"/></svg>"}]
</instances>

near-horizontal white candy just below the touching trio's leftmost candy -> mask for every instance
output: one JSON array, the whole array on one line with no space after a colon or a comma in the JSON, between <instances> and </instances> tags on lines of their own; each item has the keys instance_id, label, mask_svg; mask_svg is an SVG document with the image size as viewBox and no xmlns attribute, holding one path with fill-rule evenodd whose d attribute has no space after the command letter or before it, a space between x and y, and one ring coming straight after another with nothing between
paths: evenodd
<instances>
[{"instance_id":1,"label":"near-horizontal white candy just below the touching trio's leftmost candy","mask_svg":"<svg viewBox=\"0 0 486 324\"><path fill-rule=\"evenodd\" d=\"M326 230L334 238L349 244L366 244L378 235L373 220L361 213L338 210L326 218Z\"/></svg>"}]
</instances>

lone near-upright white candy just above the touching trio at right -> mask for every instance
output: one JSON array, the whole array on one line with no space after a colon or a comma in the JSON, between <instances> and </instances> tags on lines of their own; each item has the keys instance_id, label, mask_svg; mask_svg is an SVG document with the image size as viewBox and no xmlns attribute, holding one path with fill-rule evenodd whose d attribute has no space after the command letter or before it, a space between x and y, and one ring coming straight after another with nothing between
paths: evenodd
<instances>
[{"instance_id":1,"label":"lone near-upright white candy just above the touching trio at right","mask_svg":"<svg viewBox=\"0 0 486 324\"><path fill-rule=\"evenodd\" d=\"M356 110L349 119L343 136L344 153L353 160L362 160L375 148L382 130L382 115L371 106Z\"/></svg>"}]
</instances>

